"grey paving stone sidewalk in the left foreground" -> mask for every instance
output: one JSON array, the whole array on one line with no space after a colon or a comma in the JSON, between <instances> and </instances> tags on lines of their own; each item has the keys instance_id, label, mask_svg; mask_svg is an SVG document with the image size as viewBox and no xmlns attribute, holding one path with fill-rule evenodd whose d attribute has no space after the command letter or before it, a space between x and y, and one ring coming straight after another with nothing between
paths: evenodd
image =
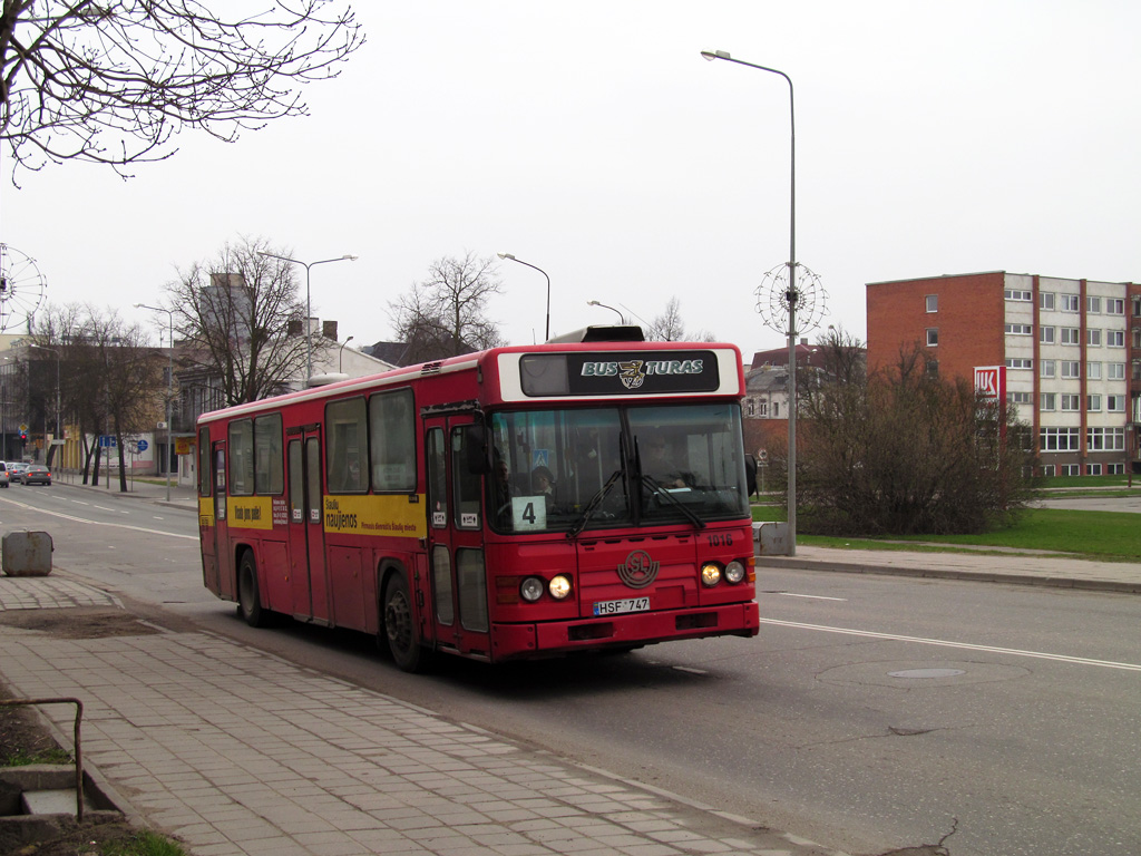
<instances>
[{"instance_id":1,"label":"grey paving stone sidewalk in the left foreground","mask_svg":"<svg viewBox=\"0 0 1141 856\"><path fill-rule=\"evenodd\" d=\"M113 600L0 576L0 609ZM212 633L0 624L0 675L17 697L82 698L86 766L195 856L836 854ZM66 742L72 712L41 712Z\"/></svg>"}]
</instances>

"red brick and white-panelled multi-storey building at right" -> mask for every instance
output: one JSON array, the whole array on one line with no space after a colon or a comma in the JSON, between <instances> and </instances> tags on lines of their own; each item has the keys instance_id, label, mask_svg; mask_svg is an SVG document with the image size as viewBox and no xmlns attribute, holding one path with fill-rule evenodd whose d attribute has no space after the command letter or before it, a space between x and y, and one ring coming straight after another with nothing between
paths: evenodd
<instances>
[{"instance_id":1,"label":"red brick and white-panelled multi-storey building at right","mask_svg":"<svg viewBox=\"0 0 1141 856\"><path fill-rule=\"evenodd\" d=\"M868 283L868 369L912 344L946 378L1005 365L1045 475L1141 473L1141 285L1002 270Z\"/></svg>"}]
</instances>

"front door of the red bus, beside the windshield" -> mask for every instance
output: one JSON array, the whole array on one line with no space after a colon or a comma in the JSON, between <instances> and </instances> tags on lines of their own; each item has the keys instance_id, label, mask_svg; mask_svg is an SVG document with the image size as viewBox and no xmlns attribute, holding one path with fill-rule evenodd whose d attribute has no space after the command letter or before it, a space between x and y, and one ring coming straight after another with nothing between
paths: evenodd
<instances>
[{"instance_id":1,"label":"front door of the red bus, beside the windshield","mask_svg":"<svg viewBox=\"0 0 1141 856\"><path fill-rule=\"evenodd\" d=\"M431 628L437 646L491 656L484 566L482 481L468 467L470 415L424 420L428 455L428 567Z\"/></svg>"}]
</instances>

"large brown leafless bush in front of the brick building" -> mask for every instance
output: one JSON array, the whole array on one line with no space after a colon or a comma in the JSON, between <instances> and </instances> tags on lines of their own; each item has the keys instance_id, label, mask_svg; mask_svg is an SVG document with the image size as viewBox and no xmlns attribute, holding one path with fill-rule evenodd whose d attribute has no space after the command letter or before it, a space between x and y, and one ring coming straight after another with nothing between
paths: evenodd
<instances>
[{"instance_id":1,"label":"large brown leafless bush in front of the brick building","mask_svg":"<svg viewBox=\"0 0 1141 856\"><path fill-rule=\"evenodd\" d=\"M939 378L923 350L904 349L869 377L842 360L847 377L802 390L796 483L806 531L982 532L1029 501L1034 453L1013 409L984 406L965 381ZM784 450L775 462L787 466Z\"/></svg>"}]
</instances>

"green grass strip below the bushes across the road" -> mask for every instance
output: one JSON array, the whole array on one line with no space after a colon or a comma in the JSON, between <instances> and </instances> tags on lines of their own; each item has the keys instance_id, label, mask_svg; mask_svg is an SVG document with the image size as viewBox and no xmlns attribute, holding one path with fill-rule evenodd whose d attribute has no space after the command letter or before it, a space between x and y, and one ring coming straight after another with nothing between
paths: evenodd
<instances>
[{"instance_id":1,"label":"green grass strip below the bushes across the road","mask_svg":"<svg viewBox=\"0 0 1141 856\"><path fill-rule=\"evenodd\" d=\"M755 506L754 520L783 520L785 509ZM816 547L864 549L915 549L919 543L941 548L994 547L1004 550L1047 550L1082 558L1141 562L1141 516L1125 511L1070 511L1060 508L1027 509L1010 528L978 535L891 535L883 539L824 538L796 533L798 543ZM896 542L893 546L888 542ZM904 542L900 544L899 542Z\"/></svg>"}]
</instances>

